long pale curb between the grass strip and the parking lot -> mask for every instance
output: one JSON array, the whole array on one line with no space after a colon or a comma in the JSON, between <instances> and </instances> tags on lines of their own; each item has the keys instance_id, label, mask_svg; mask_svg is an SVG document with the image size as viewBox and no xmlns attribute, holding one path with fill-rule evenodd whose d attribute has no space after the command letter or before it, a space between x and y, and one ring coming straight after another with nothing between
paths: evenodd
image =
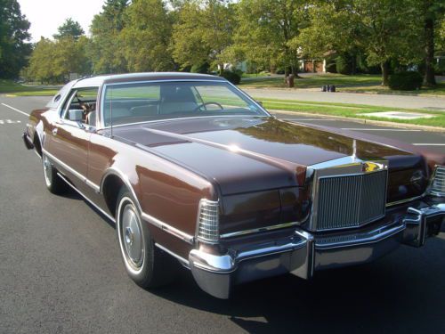
<instances>
[{"instance_id":1,"label":"long pale curb between the grass strip and the parking lot","mask_svg":"<svg viewBox=\"0 0 445 334\"><path fill-rule=\"evenodd\" d=\"M302 111L275 110L275 109L271 109L268 111L270 111L272 114L280 113L280 114L287 114L287 115L311 116L312 118L336 118L339 120L349 120L349 121L356 122L356 123L370 124L370 125L375 125L375 126L390 126L390 127L400 127L400 128L406 128L406 129L424 130L424 131L431 131L431 132L445 132L445 128L439 127L439 126L417 126L416 124L396 123L396 122L389 122L386 120L374 120L374 119L365 119L365 118L347 118L344 116L313 114L310 112L302 112Z\"/></svg>"}]
</instances>

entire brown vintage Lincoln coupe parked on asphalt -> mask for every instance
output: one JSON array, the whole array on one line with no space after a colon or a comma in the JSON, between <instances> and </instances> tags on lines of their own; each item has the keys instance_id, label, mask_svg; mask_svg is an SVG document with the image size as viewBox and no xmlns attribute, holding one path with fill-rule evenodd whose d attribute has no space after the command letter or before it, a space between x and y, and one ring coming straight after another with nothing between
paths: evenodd
<instances>
[{"instance_id":1,"label":"entire brown vintage Lincoln coupe parked on asphalt","mask_svg":"<svg viewBox=\"0 0 445 334\"><path fill-rule=\"evenodd\" d=\"M24 142L44 182L117 226L144 288L189 268L201 289L367 263L423 246L444 220L445 157L279 120L221 77L136 73L61 88Z\"/></svg>"}]
</instances>

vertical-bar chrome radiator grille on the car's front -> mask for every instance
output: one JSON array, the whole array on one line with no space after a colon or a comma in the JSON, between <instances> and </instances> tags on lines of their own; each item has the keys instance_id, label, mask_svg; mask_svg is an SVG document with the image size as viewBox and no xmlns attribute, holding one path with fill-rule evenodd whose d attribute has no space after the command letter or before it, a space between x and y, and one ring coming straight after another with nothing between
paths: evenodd
<instances>
[{"instance_id":1,"label":"vertical-bar chrome radiator grille on the car's front","mask_svg":"<svg viewBox=\"0 0 445 334\"><path fill-rule=\"evenodd\" d=\"M357 227L384 216L387 170L320 177L316 229Z\"/></svg>"}]
</instances>

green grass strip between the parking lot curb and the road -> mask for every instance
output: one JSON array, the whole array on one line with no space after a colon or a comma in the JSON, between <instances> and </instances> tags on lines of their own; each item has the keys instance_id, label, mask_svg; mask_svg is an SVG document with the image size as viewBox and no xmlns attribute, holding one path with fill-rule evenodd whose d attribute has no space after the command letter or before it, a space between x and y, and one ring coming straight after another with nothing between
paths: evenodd
<instances>
[{"instance_id":1,"label":"green grass strip between the parking lot curb and the road","mask_svg":"<svg viewBox=\"0 0 445 334\"><path fill-rule=\"evenodd\" d=\"M374 107L361 104L329 103L329 102L303 102L293 100L261 99L267 110L287 110L305 112L326 116L342 116L346 118L363 118L391 121L396 123L415 124L420 126L438 126L445 128L445 112L433 110L406 110L397 108ZM369 117L363 114L382 111L406 111L436 115L434 118L399 119Z\"/></svg>"}]
</instances>

